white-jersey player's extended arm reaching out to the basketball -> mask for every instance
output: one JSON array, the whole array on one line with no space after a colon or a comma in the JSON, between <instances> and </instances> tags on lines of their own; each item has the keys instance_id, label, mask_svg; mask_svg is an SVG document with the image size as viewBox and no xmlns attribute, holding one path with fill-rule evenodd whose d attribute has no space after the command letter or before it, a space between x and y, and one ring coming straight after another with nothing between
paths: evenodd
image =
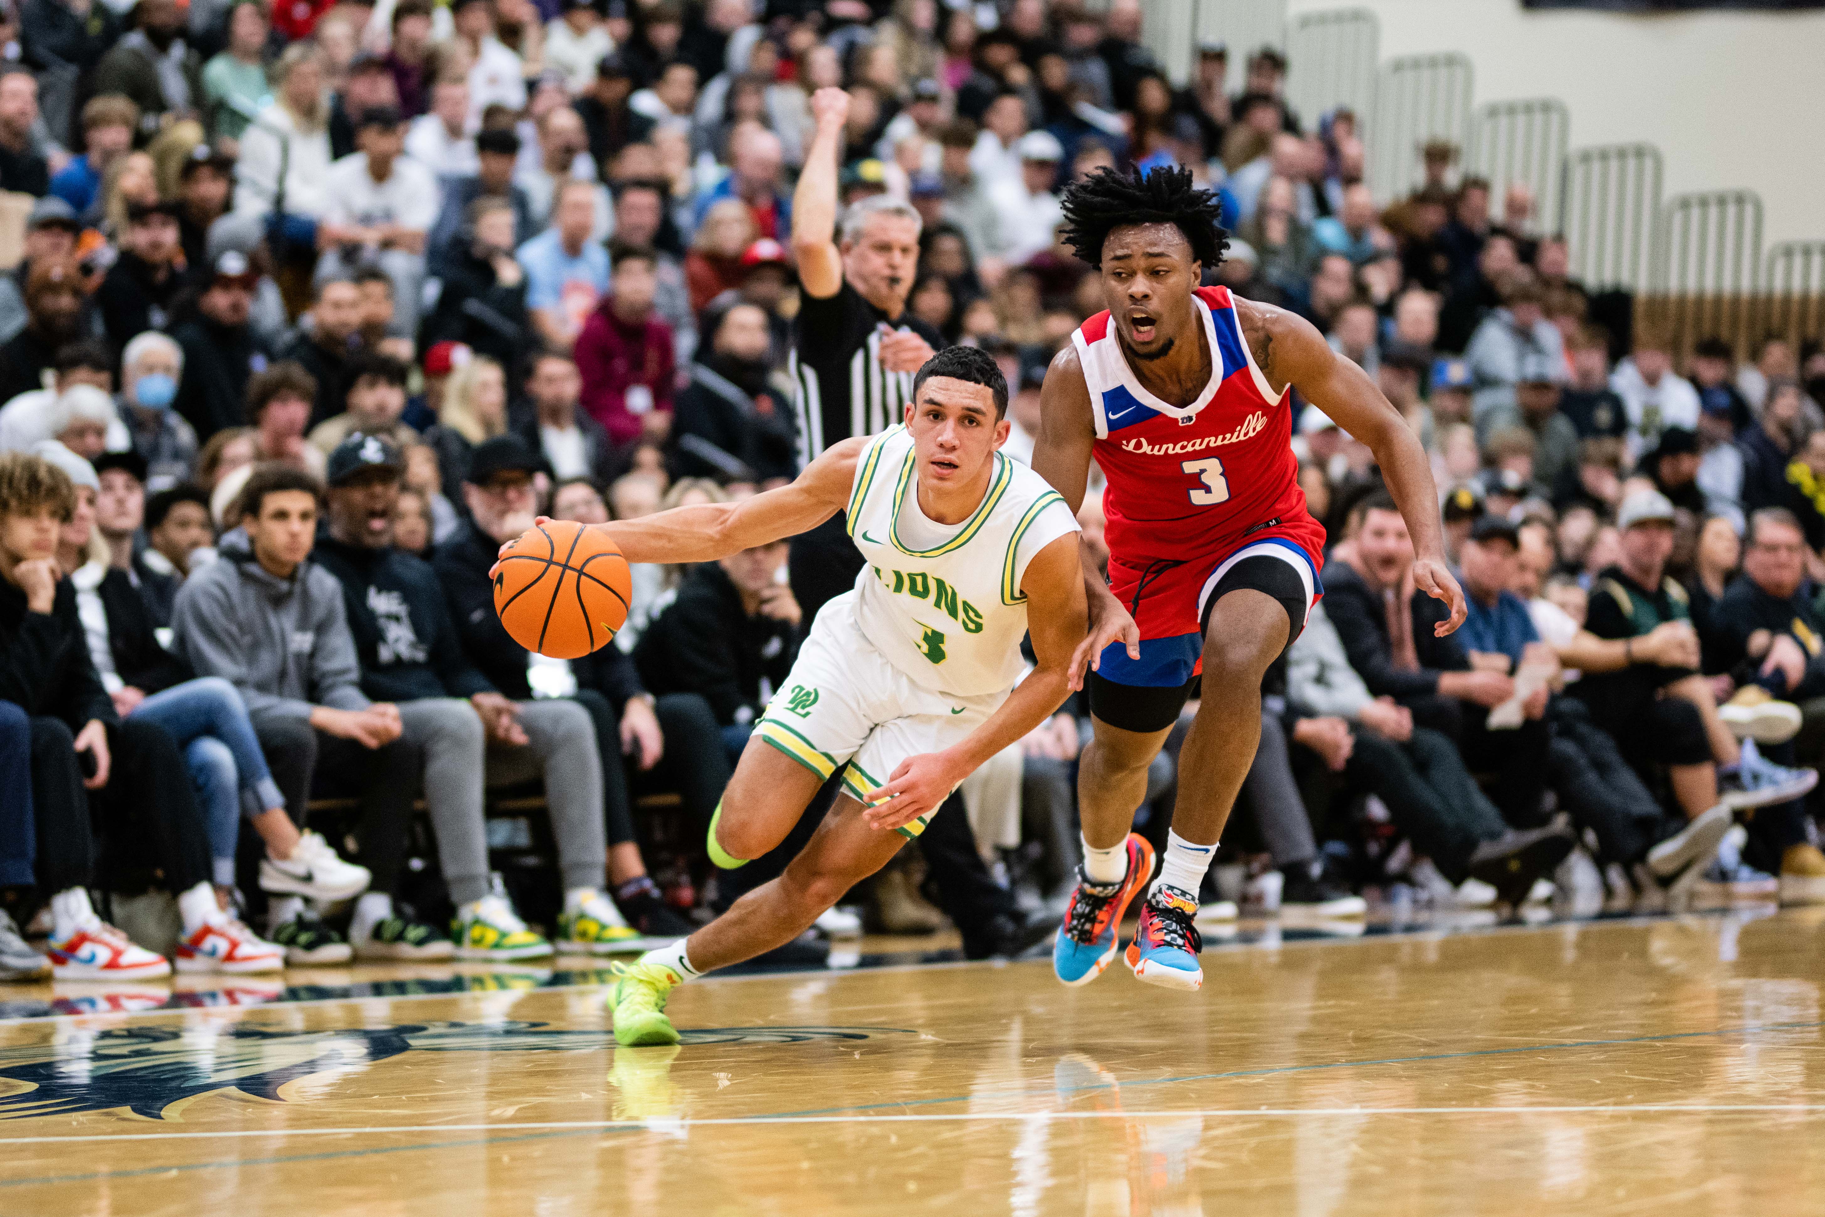
<instances>
[{"instance_id":1,"label":"white-jersey player's extended arm reaching out to the basketball","mask_svg":"<svg viewBox=\"0 0 1825 1217\"><path fill-rule=\"evenodd\" d=\"M743 549L798 536L841 511L856 480L856 456L867 443L865 436L843 440L825 449L790 485L739 504L694 504L589 527L615 542L630 564L715 562ZM509 540L500 555L506 556L518 544Z\"/></svg>"}]
</instances>

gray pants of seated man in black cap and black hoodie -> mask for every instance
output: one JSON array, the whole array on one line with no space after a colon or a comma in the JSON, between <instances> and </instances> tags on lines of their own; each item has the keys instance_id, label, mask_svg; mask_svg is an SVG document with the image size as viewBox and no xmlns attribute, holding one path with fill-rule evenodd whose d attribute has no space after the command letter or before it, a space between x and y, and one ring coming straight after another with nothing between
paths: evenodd
<instances>
[{"instance_id":1,"label":"gray pants of seated man in black cap and black hoodie","mask_svg":"<svg viewBox=\"0 0 1825 1217\"><path fill-rule=\"evenodd\" d=\"M400 721L407 746L422 755L425 805L453 901L465 905L487 894L484 783L507 786L540 775L566 890L606 883L602 757L588 710L573 701L520 702L524 746L487 739L474 708L456 697L400 702Z\"/></svg>"}]
</instances>

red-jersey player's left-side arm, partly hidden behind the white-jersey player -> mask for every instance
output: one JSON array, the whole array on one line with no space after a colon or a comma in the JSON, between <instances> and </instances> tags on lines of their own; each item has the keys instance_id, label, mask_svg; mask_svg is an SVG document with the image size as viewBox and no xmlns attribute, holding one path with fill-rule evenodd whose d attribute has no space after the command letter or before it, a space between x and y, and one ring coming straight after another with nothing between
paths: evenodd
<instances>
[{"instance_id":1,"label":"red-jersey player's left-side arm, partly hidden behind the white-jersey player","mask_svg":"<svg viewBox=\"0 0 1825 1217\"><path fill-rule=\"evenodd\" d=\"M1090 462L1097 442L1097 425L1090 411L1090 387L1077 359L1077 347L1066 347L1051 358L1046 383L1038 390L1038 438L1033 442L1033 473L1046 478L1051 489L1064 496L1071 515L1084 505L1084 487L1090 485ZM1084 575L1084 597L1090 604L1090 633L1071 655L1068 681L1073 690L1084 686L1084 668L1102 662L1102 648L1122 640L1128 657L1141 659L1141 631L1122 602L1110 591L1110 582L1097 566L1097 555L1079 542L1079 564Z\"/></svg>"}]
</instances>

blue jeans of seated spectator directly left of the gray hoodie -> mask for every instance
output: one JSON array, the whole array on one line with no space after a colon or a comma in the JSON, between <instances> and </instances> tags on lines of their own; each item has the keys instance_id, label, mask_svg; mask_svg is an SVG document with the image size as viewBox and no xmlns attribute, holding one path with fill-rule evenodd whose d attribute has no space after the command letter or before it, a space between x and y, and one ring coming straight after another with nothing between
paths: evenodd
<instances>
[{"instance_id":1,"label":"blue jeans of seated spectator directly left of the gray hoodie","mask_svg":"<svg viewBox=\"0 0 1825 1217\"><path fill-rule=\"evenodd\" d=\"M221 677L184 681L139 702L130 717L162 726L182 748L208 823L215 883L234 883L243 810L257 816L285 806L241 693Z\"/></svg>"}]
</instances>

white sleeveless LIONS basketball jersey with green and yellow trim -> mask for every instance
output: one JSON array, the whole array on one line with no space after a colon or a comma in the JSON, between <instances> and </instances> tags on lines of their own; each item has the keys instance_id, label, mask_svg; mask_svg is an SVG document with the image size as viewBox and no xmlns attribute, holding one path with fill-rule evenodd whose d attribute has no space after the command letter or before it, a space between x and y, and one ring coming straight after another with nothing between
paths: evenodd
<instances>
[{"instance_id":1,"label":"white sleeveless LIONS basketball jersey with green and yellow trim","mask_svg":"<svg viewBox=\"0 0 1825 1217\"><path fill-rule=\"evenodd\" d=\"M869 562L856 577L856 620L925 688L953 697L1009 690L1027 628L1020 580L1077 520L1042 476L996 452L976 511L936 524L918 505L914 465L903 425L874 436L856 462L849 535Z\"/></svg>"}]
</instances>

